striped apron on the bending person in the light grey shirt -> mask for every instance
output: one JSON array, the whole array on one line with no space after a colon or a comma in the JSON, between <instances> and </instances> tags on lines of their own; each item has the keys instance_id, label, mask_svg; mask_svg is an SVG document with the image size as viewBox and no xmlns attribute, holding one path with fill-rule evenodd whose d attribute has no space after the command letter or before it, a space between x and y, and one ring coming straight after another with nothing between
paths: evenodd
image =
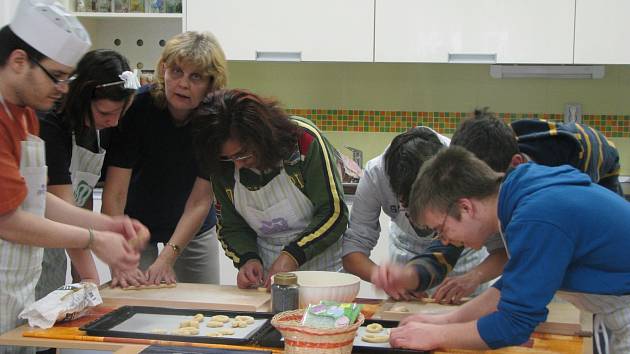
<instances>
[{"instance_id":1,"label":"striped apron on the bending person in the light grey shirt","mask_svg":"<svg viewBox=\"0 0 630 354\"><path fill-rule=\"evenodd\" d=\"M404 220L402 220L403 218ZM398 223L402 223L403 226L405 226L406 223L409 227L405 227L405 229L409 229L410 231L406 232L399 226ZM389 223L389 240L390 261L399 264L406 264L411 258L422 253L433 241L430 236L416 236L416 231L413 230L404 213L398 213L398 217ZM478 251L472 248L465 248L459 256L457 263L455 263L453 271L447 274L447 276L457 276L468 273L470 270L483 262L487 256L488 251L486 251L485 248ZM477 296L489 286L489 282L479 284L477 289L475 289L475 291L470 295ZM433 295L433 293L435 293L435 289L437 289L437 287L429 289L427 293L429 295Z\"/></svg>"}]
</instances>

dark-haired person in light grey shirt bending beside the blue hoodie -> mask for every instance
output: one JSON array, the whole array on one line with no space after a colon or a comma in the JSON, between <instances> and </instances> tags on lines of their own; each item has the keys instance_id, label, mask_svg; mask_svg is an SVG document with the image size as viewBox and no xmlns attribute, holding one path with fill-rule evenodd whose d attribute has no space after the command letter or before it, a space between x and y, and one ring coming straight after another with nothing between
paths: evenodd
<instances>
[{"instance_id":1,"label":"dark-haired person in light grey shirt bending beside the blue hoodie","mask_svg":"<svg viewBox=\"0 0 630 354\"><path fill-rule=\"evenodd\" d=\"M368 161L357 187L343 238L344 268L381 286L395 299L413 298L437 286L435 300L457 303L483 291L488 286L484 283L501 271L492 262L481 265L488 255L485 249L445 246L437 240L440 229L414 227L408 220L406 206L418 170L449 142L430 128L412 128L396 136L382 155ZM369 257L380 236L381 210L391 218L390 264L379 266ZM504 253L500 242L495 246L488 250ZM450 277L445 279L447 274ZM465 286L451 287L454 281Z\"/></svg>"}]
</instances>

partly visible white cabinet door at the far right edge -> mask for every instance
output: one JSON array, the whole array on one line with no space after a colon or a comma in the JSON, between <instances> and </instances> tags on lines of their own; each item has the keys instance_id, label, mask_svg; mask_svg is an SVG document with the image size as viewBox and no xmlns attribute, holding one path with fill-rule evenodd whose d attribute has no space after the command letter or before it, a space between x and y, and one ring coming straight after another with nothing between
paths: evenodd
<instances>
[{"instance_id":1,"label":"partly visible white cabinet door at the far right edge","mask_svg":"<svg viewBox=\"0 0 630 354\"><path fill-rule=\"evenodd\" d=\"M576 0L575 63L630 64L630 1Z\"/></svg>"}]
</instances>

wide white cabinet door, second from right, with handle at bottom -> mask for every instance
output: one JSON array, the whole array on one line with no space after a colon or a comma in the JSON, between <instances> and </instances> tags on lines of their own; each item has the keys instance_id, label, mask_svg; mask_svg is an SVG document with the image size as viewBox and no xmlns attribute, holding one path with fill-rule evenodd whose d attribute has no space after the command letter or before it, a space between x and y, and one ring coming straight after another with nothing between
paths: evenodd
<instances>
[{"instance_id":1,"label":"wide white cabinet door, second from right, with handle at bottom","mask_svg":"<svg viewBox=\"0 0 630 354\"><path fill-rule=\"evenodd\" d=\"M571 64L574 9L575 0L376 0L374 58Z\"/></svg>"}]
</instances>

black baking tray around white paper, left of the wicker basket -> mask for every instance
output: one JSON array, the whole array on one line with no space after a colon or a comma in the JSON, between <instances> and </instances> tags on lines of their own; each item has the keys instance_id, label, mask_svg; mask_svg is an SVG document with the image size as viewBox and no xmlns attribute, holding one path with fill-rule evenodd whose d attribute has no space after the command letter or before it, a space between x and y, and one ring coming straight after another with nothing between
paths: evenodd
<instances>
[{"instance_id":1,"label":"black baking tray around white paper, left of the wicker basket","mask_svg":"<svg viewBox=\"0 0 630 354\"><path fill-rule=\"evenodd\" d=\"M171 334L156 334L145 332L128 332L128 331L116 331L112 328L123 323L136 314L158 314L158 315L176 315L176 316L194 316L198 313L203 314L205 317L211 317L215 315L226 315L230 317L234 316L252 316L256 319L267 319L267 321L256 331L250 333L245 338L225 338L225 337L206 337L206 336L180 336ZM235 345L247 345L258 344L261 340L261 336L269 333L273 326L271 325L271 318L273 313L269 312L245 312L245 311L223 311L223 310L198 310L198 309L175 309L164 307L150 307L150 306L123 306L103 317L92 321L80 329L87 332L91 336L99 337L122 337L122 338L142 338L142 339L156 339L156 340L168 340L177 342L197 342L197 343L211 343L211 344L235 344Z\"/></svg>"}]
</instances>

